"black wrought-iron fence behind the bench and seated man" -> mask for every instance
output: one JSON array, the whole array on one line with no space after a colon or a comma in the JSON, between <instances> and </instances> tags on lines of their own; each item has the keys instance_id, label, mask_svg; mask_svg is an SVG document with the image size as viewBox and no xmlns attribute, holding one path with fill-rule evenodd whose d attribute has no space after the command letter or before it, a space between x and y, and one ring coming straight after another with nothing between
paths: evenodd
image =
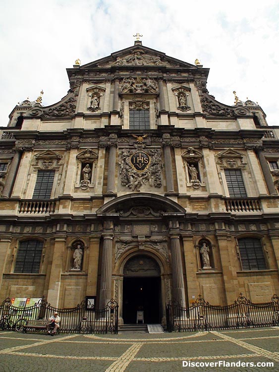
<instances>
[{"instance_id":1,"label":"black wrought-iron fence behind the bench and seated man","mask_svg":"<svg viewBox=\"0 0 279 372\"><path fill-rule=\"evenodd\" d=\"M21 331L28 320L48 320L57 311L60 332L65 333L118 333L118 305L112 299L105 309L97 310L83 301L72 309L57 309L42 298L30 307L15 307L10 299L0 306L0 329Z\"/></svg>"}]
</instances>

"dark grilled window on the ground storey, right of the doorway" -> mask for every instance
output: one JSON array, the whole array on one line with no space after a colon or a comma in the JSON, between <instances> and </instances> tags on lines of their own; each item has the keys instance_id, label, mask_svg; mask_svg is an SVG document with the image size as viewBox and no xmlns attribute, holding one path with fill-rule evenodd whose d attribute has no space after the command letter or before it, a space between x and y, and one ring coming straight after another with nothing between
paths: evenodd
<instances>
[{"instance_id":1,"label":"dark grilled window on the ground storey, right of the doorway","mask_svg":"<svg viewBox=\"0 0 279 372\"><path fill-rule=\"evenodd\" d=\"M256 238L238 240L242 270L265 270L267 268L261 241Z\"/></svg>"}]
</instances>

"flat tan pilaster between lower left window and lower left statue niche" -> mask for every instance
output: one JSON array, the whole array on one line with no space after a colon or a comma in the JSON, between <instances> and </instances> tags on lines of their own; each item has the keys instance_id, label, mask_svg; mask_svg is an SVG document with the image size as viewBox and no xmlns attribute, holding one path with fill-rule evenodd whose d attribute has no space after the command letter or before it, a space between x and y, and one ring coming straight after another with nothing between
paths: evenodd
<instances>
[{"instance_id":1,"label":"flat tan pilaster between lower left window and lower left statue niche","mask_svg":"<svg viewBox=\"0 0 279 372\"><path fill-rule=\"evenodd\" d=\"M55 238L53 256L51 259L52 268L47 301L56 308L59 305L61 272L63 270L65 244L66 236L61 235Z\"/></svg>"}]
</instances>

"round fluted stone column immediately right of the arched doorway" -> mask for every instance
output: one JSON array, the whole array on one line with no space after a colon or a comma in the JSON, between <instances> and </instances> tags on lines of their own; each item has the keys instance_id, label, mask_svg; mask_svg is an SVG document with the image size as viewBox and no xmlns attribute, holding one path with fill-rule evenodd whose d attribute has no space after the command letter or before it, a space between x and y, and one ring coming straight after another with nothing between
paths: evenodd
<instances>
[{"instance_id":1,"label":"round fluted stone column immediately right of the arched doorway","mask_svg":"<svg viewBox=\"0 0 279 372\"><path fill-rule=\"evenodd\" d=\"M186 306L183 279L182 257L178 233L170 233L171 271L172 271L172 299Z\"/></svg>"}]
</instances>

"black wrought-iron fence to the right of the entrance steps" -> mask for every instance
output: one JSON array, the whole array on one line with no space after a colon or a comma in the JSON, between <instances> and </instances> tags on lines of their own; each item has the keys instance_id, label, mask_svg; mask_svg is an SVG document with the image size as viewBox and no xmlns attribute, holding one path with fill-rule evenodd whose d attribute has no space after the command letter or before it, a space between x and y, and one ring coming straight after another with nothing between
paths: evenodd
<instances>
[{"instance_id":1,"label":"black wrought-iron fence to the right of the entrance steps","mask_svg":"<svg viewBox=\"0 0 279 372\"><path fill-rule=\"evenodd\" d=\"M254 304L242 294L233 304L214 306L201 295L189 308L170 302L166 307L167 331L202 331L279 325L279 297L270 303Z\"/></svg>"}]
</instances>

